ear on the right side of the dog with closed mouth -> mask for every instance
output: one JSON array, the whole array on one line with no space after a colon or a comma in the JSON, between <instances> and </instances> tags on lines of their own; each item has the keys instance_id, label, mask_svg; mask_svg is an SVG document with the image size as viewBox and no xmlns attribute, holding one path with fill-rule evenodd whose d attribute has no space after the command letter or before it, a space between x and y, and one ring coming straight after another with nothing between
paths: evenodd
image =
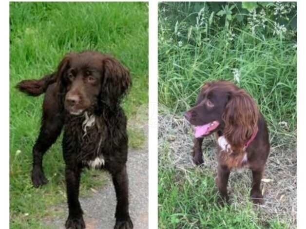
<instances>
[{"instance_id":1,"label":"ear on the right side of the dog with closed mouth","mask_svg":"<svg viewBox=\"0 0 306 229\"><path fill-rule=\"evenodd\" d=\"M130 71L114 57L104 58L102 68L102 100L110 106L116 105L132 85Z\"/></svg>"}]
</instances>

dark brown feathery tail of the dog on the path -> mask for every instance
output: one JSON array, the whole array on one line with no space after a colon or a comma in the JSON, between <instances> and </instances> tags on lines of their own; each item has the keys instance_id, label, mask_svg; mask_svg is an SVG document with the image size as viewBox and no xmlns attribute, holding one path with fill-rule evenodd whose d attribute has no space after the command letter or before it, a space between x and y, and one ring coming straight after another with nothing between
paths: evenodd
<instances>
[{"instance_id":1,"label":"dark brown feathery tail of the dog on the path","mask_svg":"<svg viewBox=\"0 0 306 229\"><path fill-rule=\"evenodd\" d=\"M48 86L56 81L56 74L50 74L41 79L22 80L16 87L27 95L38 96L46 92Z\"/></svg>"}]
</instances>

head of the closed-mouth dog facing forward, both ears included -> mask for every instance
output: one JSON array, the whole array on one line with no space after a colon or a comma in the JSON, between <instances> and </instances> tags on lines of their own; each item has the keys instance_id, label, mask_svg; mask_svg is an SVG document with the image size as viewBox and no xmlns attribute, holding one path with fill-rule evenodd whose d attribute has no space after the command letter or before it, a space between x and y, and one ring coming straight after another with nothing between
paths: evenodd
<instances>
[{"instance_id":1,"label":"head of the closed-mouth dog facing forward, both ears included","mask_svg":"<svg viewBox=\"0 0 306 229\"><path fill-rule=\"evenodd\" d=\"M57 69L61 101L71 115L114 109L131 82L126 67L114 57L98 52L70 53Z\"/></svg>"}]
</instances>

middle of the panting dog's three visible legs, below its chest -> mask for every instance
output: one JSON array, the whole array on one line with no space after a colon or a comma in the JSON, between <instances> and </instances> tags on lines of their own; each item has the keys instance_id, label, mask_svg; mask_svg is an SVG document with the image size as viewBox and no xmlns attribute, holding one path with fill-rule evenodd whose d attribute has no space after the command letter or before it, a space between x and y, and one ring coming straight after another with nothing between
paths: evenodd
<instances>
[{"instance_id":1,"label":"middle of the panting dog's three visible legs, below its chest","mask_svg":"<svg viewBox=\"0 0 306 229\"><path fill-rule=\"evenodd\" d=\"M224 165L218 165L218 177L216 179L216 183L219 189L219 193L221 195L220 204L223 202L229 202L228 196L228 181L229 181L229 168Z\"/></svg>"}]
</instances>

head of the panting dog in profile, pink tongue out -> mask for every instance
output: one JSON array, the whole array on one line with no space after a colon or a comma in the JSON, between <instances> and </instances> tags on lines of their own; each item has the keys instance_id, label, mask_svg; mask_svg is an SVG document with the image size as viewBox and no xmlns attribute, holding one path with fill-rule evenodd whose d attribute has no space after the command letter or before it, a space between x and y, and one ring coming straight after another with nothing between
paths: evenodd
<instances>
[{"instance_id":1,"label":"head of the panting dog in profile, pink tongue out","mask_svg":"<svg viewBox=\"0 0 306 229\"><path fill-rule=\"evenodd\" d=\"M201 138L222 130L233 148L241 148L257 132L259 110L252 97L229 81L206 83L196 106L185 113Z\"/></svg>"}]
</instances>

